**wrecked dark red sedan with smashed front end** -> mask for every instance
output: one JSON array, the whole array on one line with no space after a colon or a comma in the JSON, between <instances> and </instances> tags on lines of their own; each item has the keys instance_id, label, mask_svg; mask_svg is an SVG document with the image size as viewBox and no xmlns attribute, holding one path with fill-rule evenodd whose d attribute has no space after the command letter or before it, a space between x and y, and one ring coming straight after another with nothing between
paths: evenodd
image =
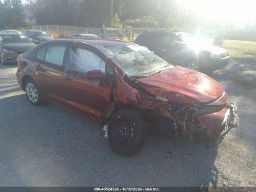
<instances>
[{"instance_id":1,"label":"wrecked dark red sedan with smashed front end","mask_svg":"<svg viewBox=\"0 0 256 192\"><path fill-rule=\"evenodd\" d=\"M53 40L17 60L30 103L50 102L99 122L121 155L137 154L147 132L215 146L238 126L236 105L218 82L130 42Z\"/></svg>"}]
</instances>

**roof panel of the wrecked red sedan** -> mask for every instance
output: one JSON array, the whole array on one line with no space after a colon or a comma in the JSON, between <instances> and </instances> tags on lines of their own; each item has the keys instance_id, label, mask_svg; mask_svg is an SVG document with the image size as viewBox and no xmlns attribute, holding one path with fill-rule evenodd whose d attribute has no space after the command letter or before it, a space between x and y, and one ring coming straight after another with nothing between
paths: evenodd
<instances>
[{"instance_id":1,"label":"roof panel of the wrecked red sedan","mask_svg":"<svg viewBox=\"0 0 256 192\"><path fill-rule=\"evenodd\" d=\"M130 42L117 40L117 39L110 39L110 38L70 38L70 39L50 40L46 42L48 43L50 42L82 42L83 43L84 42L84 43L92 44L95 46L111 46L111 45L130 43Z\"/></svg>"}]
</instances>

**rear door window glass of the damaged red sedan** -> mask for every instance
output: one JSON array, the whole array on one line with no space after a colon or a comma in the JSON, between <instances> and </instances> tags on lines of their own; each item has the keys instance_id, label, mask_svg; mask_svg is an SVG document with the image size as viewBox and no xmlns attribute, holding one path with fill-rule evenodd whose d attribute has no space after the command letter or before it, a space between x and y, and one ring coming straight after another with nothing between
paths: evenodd
<instances>
[{"instance_id":1,"label":"rear door window glass of the damaged red sedan","mask_svg":"<svg viewBox=\"0 0 256 192\"><path fill-rule=\"evenodd\" d=\"M50 44L47 46L45 61L62 66L66 44Z\"/></svg>"}]
</instances>

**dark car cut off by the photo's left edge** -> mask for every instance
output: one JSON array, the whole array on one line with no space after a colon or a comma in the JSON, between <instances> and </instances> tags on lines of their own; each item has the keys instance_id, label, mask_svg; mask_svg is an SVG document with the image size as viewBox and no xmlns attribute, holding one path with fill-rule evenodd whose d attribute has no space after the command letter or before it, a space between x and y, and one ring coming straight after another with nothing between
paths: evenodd
<instances>
[{"instance_id":1,"label":"dark car cut off by the photo's left edge","mask_svg":"<svg viewBox=\"0 0 256 192\"><path fill-rule=\"evenodd\" d=\"M16 33L0 33L0 64L14 63L19 54L22 54L36 44L26 36Z\"/></svg>"}]
</instances>

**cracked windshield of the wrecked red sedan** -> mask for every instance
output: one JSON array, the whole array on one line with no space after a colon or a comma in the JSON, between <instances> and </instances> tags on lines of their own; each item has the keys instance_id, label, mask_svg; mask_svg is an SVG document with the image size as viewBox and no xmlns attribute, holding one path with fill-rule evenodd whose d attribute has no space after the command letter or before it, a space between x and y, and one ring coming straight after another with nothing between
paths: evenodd
<instances>
[{"instance_id":1,"label":"cracked windshield of the wrecked red sedan","mask_svg":"<svg viewBox=\"0 0 256 192\"><path fill-rule=\"evenodd\" d=\"M174 67L142 46L125 43L100 48L130 77L150 76Z\"/></svg>"}]
</instances>

